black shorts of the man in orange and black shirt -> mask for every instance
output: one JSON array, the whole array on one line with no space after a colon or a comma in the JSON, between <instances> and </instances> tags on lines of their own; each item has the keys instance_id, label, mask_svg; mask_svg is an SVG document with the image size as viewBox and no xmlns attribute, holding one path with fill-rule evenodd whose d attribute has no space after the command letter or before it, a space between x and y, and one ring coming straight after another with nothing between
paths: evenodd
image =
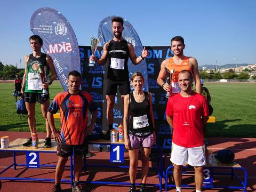
<instances>
[{"instance_id":1,"label":"black shorts of the man in orange and black shirt","mask_svg":"<svg viewBox=\"0 0 256 192\"><path fill-rule=\"evenodd\" d=\"M84 151L88 149L88 145L86 143L82 145L66 145L64 143L58 143L57 155L60 157L69 157L73 153L73 147L75 155L83 155Z\"/></svg>"}]
</instances>

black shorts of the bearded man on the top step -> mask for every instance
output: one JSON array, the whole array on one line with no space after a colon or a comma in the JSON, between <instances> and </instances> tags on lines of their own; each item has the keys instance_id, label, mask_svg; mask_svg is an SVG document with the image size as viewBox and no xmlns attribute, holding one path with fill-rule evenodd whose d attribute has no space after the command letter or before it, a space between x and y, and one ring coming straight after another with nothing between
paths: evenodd
<instances>
[{"instance_id":1,"label":"black shorts of the bearded man on the top step","mask_svg":"<svg viewBox=\"0 0 256 192\"><path fill-rule=\"evenodd\" d=\"M129 79L127 79L127 81L122 82L107 79L106 84L106 95L116 95L117 87L121 95L126 95L131 92Z\"/></svg>"}]
</instances>

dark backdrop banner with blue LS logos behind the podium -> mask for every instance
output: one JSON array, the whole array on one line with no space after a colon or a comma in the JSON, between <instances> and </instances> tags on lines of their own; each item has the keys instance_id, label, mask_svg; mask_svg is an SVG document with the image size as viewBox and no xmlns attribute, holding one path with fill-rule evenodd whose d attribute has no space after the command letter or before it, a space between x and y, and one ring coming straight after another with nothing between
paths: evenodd
<instances>
[{"instance_id":1,"label":"dark backdrop banner with blue LS logos behind the podium","mask_svg":"<svg viewBox=\"0 0 256 192\"><path fill-rule=\"evenodd\" d=\"M149 91L152 93L153 112L156 129L158 131L158 145L162 146L166 153L171 150L171 128L166 122L165 108L167 99L165 98L166 92L156 82L158 77L161 63L163 60L172 57L170 46L146 46L149 51L149 57L146 58L147 62L147 77ZM98 106L97 123L102 125L103 130L108 129L106 111L106 81L107 81L107 68L108 64L103 66L95 65L95 68L87 68L89 58L91 55L90 46L79 46L81 55L81 70L82 70L82 87L83 90L90 92L93 96L94 102ZM103 51L102 47L97 48L98 59L101 57ZM132 90L131 90L132 91ZM102 102L101 102L102 99ZM114 124L113 129L118 129L118 125L123 123L123 102L117 91L114 106Z\"/></svg>"}]
</instances>

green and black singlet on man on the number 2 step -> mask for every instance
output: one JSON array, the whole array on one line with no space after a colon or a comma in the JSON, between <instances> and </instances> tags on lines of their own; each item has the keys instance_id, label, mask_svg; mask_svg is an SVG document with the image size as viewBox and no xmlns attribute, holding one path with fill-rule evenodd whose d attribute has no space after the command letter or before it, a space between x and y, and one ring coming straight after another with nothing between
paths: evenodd
<instances>
[{"instance_id":1,"label":"green and black singlet on man on the number 2 step","mask_svg":"<svg viewBox=\"0 0 256 192\"><path fill-rule=\"evenodd\" d=\"M27 77L26 77L25 92L28 92L28 93L43 92L43 89L41 86L41 80L37 72L37 66L39 65L41 66L41 68L46 67L46 78L48 78L49 67L47 67L46 54L43 53L39 58L35 58L33 54L30 54L27 62Z\"/></svg>"}]
</instances>

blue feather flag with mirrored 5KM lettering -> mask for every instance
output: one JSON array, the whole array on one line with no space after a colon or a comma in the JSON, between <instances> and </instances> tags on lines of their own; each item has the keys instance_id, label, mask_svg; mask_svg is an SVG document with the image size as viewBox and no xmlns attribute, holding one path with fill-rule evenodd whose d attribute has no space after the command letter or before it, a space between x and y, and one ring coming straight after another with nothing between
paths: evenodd
<instances>
[{"instance_id":1,"label":"blue feather flag with mirrored 5KM lettering","mask_svg":"<svg viewBox=\"0 0 256 192\"><path fill-rule=\"evenodd\" d=\"M30 29L43 39L43 50L52 57L61 85L67 91L69 71L81 72L78 43L70 23L57 10L43 7L32 15Z\"/></svg>"}]
</instances>

